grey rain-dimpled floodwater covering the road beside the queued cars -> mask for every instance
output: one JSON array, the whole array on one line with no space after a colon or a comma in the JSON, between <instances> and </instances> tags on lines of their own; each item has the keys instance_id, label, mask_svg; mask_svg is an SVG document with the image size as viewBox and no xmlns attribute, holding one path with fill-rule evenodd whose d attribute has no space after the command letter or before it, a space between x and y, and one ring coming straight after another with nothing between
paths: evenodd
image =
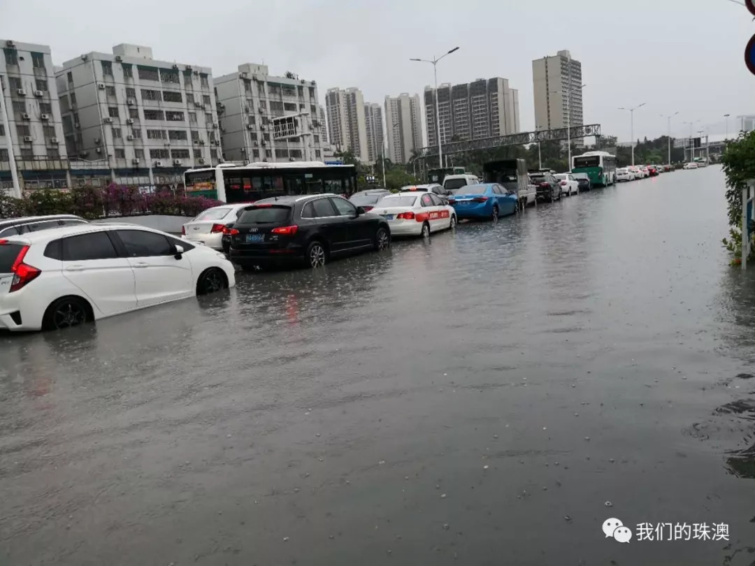
<instances>
[{"instance_id":1,"label":"grey rain-dimpled floodwater covering the road beside the queued cars","mask_svg":"<svg viewBox=\"0 0 755 566\"><path fill-rule=\"evenodd\" d=\"M0 564L752 564L755 275L723 183L0 336Z\"/></svg>"}]
</instances>

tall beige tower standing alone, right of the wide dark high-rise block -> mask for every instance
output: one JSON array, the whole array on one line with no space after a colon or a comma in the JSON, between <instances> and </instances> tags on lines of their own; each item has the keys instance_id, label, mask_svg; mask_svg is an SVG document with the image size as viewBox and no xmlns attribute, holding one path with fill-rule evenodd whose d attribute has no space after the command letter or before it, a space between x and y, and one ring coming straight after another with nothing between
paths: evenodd
<instances>
[{"instance_id":1,"label":"tall beige tower standing alone, right of the wide dark high-rise block","mask_svg":"<svg viewBox=\"0 0 755 566\"><path fill-rule=\"evenodd\" d=\"M535 94L535 128L550 130L584 125L582 112L582 63L569 51L532 61ZM584 140L573 140L583 147Z\"/></svg>"}]
</instances>

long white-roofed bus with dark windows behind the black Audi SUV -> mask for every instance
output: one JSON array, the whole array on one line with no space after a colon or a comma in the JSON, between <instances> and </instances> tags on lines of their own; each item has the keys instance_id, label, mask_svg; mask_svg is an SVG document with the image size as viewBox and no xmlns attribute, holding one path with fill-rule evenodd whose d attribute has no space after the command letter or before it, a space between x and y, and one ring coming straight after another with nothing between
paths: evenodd
<instances>
[{"instance_id":1,"label":"long white-roofed bus with dark windows behind the black Audi SUV","mask_svg":"<svg viewBox=\"0 0 755 566\"><path fill-rule=\"evenodd\" d=\"M282 195L356 192L356 167L325 165L322 161L221 163L190 169L183 174L186 195L206 196L223 202L251 202Z\"/></svg>"}]
</instances>

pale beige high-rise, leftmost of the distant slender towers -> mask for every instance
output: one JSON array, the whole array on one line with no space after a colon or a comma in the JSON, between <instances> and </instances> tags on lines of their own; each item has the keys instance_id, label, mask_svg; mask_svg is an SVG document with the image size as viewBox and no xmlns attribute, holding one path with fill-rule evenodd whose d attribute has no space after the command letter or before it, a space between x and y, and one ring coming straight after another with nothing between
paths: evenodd
<instances>
[{"instance_id":1,"label":"pale beige high-rise, leftmost of the distant slender towers","mask_svg":"<svg viewBox=\"0 0 755 566\"><path fill-rule=\"evenodd\" d=\"M325 93L328 133L334 149L350 150L362 162L368 162L365 99L359 88L329 88Z\"/></svg>"}]
</instances>

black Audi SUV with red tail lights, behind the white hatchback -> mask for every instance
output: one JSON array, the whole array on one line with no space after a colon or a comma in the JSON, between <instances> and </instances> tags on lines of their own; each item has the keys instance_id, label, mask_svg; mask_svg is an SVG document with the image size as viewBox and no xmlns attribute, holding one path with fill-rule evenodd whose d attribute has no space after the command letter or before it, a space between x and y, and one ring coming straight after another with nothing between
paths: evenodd
<instances>
[{"instance_id":1,"label":"black Audi SUV with red tail lights, behind the white hatchback","mask_svg":"<svg viewBox=\"0 0 755 566\"><path fill-rule=\"evenodd\" d=\"M332 257L390 247L382 217L338 195L291 195L249 205L230 229L230 258L242 269L281 263L322 267Z\"/></svg>"}]
</instances>

